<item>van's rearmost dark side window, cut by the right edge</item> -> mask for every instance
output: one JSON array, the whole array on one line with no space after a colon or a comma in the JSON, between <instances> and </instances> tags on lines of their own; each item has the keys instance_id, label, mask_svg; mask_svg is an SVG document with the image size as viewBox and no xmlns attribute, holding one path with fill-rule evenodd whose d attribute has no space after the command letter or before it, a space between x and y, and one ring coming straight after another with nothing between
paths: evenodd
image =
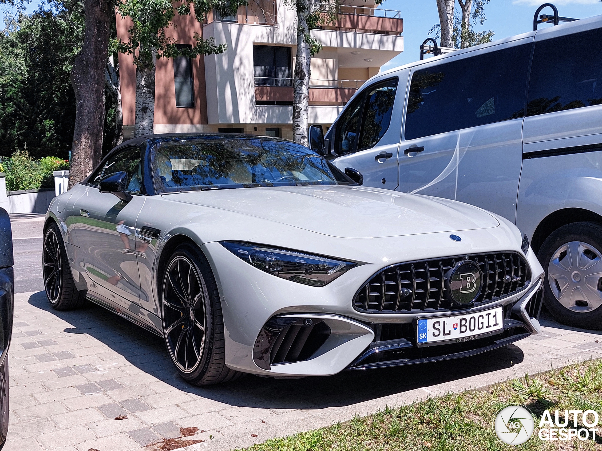
<instances>
[{"instance_id":1,"label":"van's rearmost dark side window, cut by the right edge","mask_svg":"<svg viewBox=\"0 0 602 451\"><path fill-rule=\"evenodd\" d=\"M602 104L601 40L596 28L535 43L527 116Z\"/></svg>"}]
</instances>

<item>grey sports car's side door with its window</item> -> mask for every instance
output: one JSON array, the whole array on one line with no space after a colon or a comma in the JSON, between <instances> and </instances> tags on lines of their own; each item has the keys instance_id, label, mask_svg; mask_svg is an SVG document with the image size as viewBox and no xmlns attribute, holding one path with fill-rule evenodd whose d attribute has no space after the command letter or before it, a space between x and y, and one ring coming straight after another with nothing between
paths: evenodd
<instances>
[{"instance_id":1,"label":"grey sports car's side door with its window","mask_svg":"<svg viewBox=\"0 0 602 451\"><path fill-rule=\"evenodd\" d=\"M146 196L141 195L141 151L126 147L110 155L88 179L85 193L75 202L76 236L85 273L92 282L88 294L96 293L123 308L139 305L140 242L135 224ZM131 200L98 191L98 182L111 173L126 171ZM142 258L142 257L141 257Z\"/></svg>"}]
</instances>

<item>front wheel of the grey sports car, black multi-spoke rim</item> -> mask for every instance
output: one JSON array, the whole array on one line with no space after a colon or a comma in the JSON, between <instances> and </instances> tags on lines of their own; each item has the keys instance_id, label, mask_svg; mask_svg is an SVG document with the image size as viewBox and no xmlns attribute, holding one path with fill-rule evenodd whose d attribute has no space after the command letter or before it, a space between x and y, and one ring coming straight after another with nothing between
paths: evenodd
<instances>
[{"instance_id":1,"label":"front wheel of the grey sports car, black multi-spoke rim","mask_svg":"<svg viewBox=\"0 0 602 451\"><path fill-rule=\"evenodd\" d=\"M244 376L225 364L222 304L203 253L194 245L179 245L169 258L160 286L163 336L179 375L194 385L220 384Z\"/></svg>"}]
</instances>

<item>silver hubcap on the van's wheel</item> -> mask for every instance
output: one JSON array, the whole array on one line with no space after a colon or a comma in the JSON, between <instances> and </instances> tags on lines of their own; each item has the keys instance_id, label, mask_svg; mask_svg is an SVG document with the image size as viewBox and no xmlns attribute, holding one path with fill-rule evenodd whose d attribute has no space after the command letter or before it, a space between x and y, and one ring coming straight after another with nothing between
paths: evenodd
<instances>
[{"instance_id":1,"label":"silver hubcap on the van's wheel","mask_svg":"<svg viewBox=\"0 0 602 451\"><path fill-rule=\"evenodd\" d=\"M602 253L583 241L563 244L550 259L548 282L569 310L595 310L602 305Z\"/></svg>"}]
</instances>

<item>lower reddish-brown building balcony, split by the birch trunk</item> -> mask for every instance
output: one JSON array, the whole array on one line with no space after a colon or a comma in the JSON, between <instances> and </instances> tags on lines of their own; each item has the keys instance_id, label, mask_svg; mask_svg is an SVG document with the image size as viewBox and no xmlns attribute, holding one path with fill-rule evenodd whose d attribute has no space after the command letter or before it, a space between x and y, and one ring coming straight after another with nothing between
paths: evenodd
<instances>
[{"instance_id":1,"label":"lower reddish-brown building balcony, split by the birch trunk","mask_svg":"<svg viewBox=\"0 0 602 451\"><path fill-rule=\"evenodd\" d=\"M342 106L365 80L309 80L309 105ZM255 105L293 105L293 79L255 77Z\"/></svg>"}]
</instances>

